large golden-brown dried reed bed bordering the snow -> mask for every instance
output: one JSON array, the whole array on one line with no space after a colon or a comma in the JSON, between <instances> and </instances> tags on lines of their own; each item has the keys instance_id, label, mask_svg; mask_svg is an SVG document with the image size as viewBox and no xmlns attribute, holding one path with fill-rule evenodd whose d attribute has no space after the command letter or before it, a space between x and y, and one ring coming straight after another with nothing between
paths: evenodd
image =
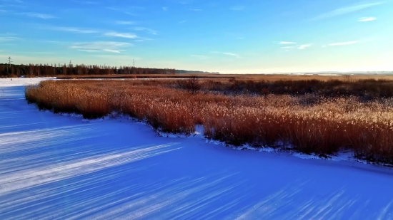
<instances>
[{"instance_id":1,"label":"large golden-brown dried reed bed bordering the snow","mask_svg":"<svg viewBox=\"0 0 393 220\"><path fill-rule=\"evenodd\" d=\"M332 154L344 148L370 161L393 163L393 100L354 96L189 93L176 80L61 80L26 88L26 100L86 118L121 112L164 132L194 131L233 145L291 146Z\"/></svg>"}]
</instances>

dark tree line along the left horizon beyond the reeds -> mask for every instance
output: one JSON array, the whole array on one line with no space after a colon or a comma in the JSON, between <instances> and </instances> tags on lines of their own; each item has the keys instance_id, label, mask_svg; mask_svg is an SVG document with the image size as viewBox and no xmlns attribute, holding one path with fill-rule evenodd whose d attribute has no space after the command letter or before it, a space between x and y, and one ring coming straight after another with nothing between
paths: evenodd
<instances>
[{"instance_id":1,"label":"dark tree line along the left horizon beyond the reeds","mask_svg":"<svg viewBox=\"0 0 393 220\"><path fill-rule=\"evenodd\" d=\"M61 65L61 64L29 64L9 65L0 63L0 75L111 75L111 74L173 74L175 69L139 68L129 66L98 66L98 65Z\"/></svg>"}]
</instances>

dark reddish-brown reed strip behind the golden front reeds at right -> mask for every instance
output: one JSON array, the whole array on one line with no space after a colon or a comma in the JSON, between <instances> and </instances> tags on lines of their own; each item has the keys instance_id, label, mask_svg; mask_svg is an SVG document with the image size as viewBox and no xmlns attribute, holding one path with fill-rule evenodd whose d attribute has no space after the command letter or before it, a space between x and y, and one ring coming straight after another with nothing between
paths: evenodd
<instances>
[{"instance_id":1,"label":"dark reddish-brown reed strip behind the golden front reeds at right","mask_svg":"<svg viewBox=\"0 0 393 220\"><path fill-rule=\"evenodd\" d=\"M258 95L305 95L324 97L357 96L362 100L393 97L393 80L201 80L201 88L227 93Z\"/></svg>"}]
</instances>

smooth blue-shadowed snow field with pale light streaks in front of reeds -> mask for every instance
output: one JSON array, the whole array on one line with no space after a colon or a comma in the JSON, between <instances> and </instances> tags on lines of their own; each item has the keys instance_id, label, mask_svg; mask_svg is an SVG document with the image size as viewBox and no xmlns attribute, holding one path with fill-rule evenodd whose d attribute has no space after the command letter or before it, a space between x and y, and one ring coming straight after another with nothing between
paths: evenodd
<instances>
[{"instance_id":1,"label":"smooth blue-shadowed snow field with pale light streaks in front of reeds","mask_svg":"<svg viewBox=\"0 0 393 220\"><path fill-rule=\"evenodd\" d=\"M393 170L39 111L0 80L0 219L393 219Z\"/></svg>"}]
</instances>

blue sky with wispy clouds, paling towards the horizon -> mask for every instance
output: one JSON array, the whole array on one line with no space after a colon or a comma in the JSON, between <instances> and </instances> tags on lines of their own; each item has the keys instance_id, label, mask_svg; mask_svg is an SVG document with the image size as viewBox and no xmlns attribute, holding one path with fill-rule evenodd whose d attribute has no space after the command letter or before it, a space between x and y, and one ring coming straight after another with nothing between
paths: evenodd
<instances>
[{"instance_id":1,"label":"blue sky with wispy clouds, paling towards the horizon","mask_svg":"<svg viewBox=\"0 0 393 220\"><path fill-rule=\"evenodd\" d=\"M393 70L393 2L0 0L0 63Z\"/></svg>"}]
</instances>

